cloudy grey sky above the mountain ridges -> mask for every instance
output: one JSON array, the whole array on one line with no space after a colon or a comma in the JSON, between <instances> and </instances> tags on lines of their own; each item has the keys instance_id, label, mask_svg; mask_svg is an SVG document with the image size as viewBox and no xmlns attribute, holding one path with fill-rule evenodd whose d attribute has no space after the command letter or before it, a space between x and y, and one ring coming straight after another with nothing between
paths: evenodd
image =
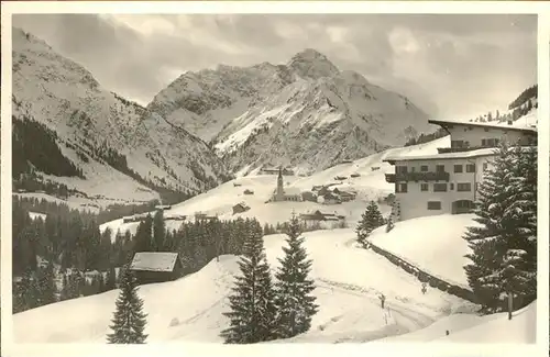
<instances>
[{"instance_id":1,"label":"cloudy grey sky above the mountain ridges","mask_svg":"<svg viewBox=\"0 0 550 357\"><path fill-rule=\"evenodd\" d=\"M306 47L433 116L504 108L537 81L535 15L32 14L13 25L142 104L186 70L282 64Z\"/></svg>"}]
</instances>

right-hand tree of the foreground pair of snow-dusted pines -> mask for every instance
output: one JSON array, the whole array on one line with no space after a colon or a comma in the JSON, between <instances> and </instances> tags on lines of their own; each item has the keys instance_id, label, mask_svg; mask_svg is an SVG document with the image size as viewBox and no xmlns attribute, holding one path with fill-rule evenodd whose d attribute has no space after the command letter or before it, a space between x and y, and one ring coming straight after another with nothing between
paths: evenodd
<instances>
[{"instance_id":1,"label":"right-hand tree of the foreground pair of snow-dusted pines","mask_svg":"<svg viewBox=\"0 0 550 357\"><path fill-rule=\"evenodd\" d=\"M311 260L307 259L300 237L299 221L295 214L288 225L288 246L283 247L285 257L279 259L280 268L276 272L277 337L288 338L307 332L311 327L311 317L318 312L316 298L310 293L315 282L308 279Z\"/></svg>"}]
</instances>

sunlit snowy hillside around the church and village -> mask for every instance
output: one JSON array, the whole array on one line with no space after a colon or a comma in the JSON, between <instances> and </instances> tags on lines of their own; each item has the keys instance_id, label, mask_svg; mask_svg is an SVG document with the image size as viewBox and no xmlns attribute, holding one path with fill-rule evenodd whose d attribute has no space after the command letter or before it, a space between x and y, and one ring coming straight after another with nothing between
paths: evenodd
<instances>
[{"instance_id":1,"label":"sunlit snowy hillside around the church and village","mask_svg":"<svg viewBox=\"0 0 550 357\"><path fill-rule=\"evenodd\" d=\"M395 168L383 159L388 155L432 155L437 153L438 147L450 146L449 136L436 140L433 142L418 144L407 147L392 148L382 153L373 154L350 164L341 164L327 170L317 172L309 177L285 176L285 187L294 188L299 191L311 190L314 186L334 185L336 188L348 188L358 193L356 199L342 204L324 205L317 202L270 202L276 188L276 175L255 175L240 177L232 181L220 185L208 192L198 194L179 204L175 204L165 212L167 215L194 215L197 212L218 215L220 220L242 217L256 217L262 224L276 224L286 222L293 211L297 214L314 212L320 210L326 213L337 212L344 215L346 224L354 226L361 219L366 204L370 200L377 201L394 192L394 186L388 183L384 174L393 172ZM351 177L352 174L359 174L359 177ZM346 179L339 181L334 177L343 176ZM254 194L244 194L245 190L251 190ZM239 202L244 202L250 210L233 215L232 207ZM389 213L391 208L381 204L384 215ZM177 228L180 222L168 221L167 225ZM109 227L114 234L118 230L121 232L130 231L132 233L138 228L139 223L123 223L122 217L101 225L101 230Z\"/></svg>"}]
</instances>

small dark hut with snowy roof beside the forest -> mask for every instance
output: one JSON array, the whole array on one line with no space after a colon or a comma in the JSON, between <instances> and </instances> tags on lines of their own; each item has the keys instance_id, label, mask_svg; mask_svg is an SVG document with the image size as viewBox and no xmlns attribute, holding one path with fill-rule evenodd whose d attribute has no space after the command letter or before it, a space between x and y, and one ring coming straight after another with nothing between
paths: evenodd
<instances>
[{"instance_id":1,"label":"small dark hut with snowy roof beside the forest","mask_svg":"<svg viewBox=\"0 0 550 357\"><path fill-rule=\"evenodd\" d=\"M130 270L135 272L139 285L165 282L183 276L183 265L177 253L135 253Z\"/></svg>"}]
</instances>

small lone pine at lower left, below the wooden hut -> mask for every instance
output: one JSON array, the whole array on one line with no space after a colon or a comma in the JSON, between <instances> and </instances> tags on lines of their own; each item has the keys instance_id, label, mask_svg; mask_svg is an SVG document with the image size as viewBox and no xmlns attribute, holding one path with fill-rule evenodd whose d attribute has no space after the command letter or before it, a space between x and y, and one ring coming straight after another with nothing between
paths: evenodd
<instances>
[{"instance_id":1,"label":"small lone pine at lower left, below the wooden hut","mask_svg":"<svg viewBox=\"0 0 550 357\"><path fill-rule=\"evenodd\" d=\"M121 291L117 299L111 334L107 335L110 344L144 344L146 314L143 312L143 300L138 295L138 280L134 274L124 267L120 282Z\"/></svg>"}]
</instances>

